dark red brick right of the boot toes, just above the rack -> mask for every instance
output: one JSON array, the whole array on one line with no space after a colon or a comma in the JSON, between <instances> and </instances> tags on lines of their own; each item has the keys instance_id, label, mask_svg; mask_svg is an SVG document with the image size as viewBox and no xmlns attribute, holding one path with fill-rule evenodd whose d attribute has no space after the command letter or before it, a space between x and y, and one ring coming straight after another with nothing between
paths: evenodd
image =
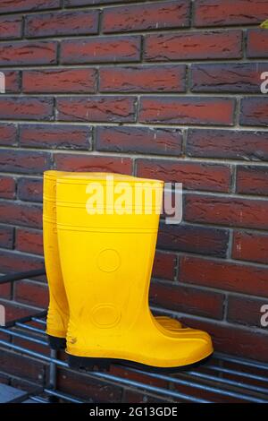
<instances>
[{"instance_id":1,"label":"dark red brick right of the boot toes, just above the rack","mask_svg":"<svg viewBox=\"0 0 268 421\"><path fill-rule=\"evenodd\" d=\"M213 337L214 349L218 352L247 357L267 363L268 335L219 322L201 322L183 318L188 326L202 329Z\"/></svg>"}]
</instances>

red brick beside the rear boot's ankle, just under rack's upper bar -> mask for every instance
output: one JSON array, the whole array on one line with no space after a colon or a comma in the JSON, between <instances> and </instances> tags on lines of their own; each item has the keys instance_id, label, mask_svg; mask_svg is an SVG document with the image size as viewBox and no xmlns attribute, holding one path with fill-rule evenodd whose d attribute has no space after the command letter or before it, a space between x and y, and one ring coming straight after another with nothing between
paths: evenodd
<instances>
[{"instance_id":1,"label":"red brick beside the rear boot's ankle, just under rack's upper bar","mask_svg":"<svg viewBox=\"0 0 268 421\"><path fill-rule=\"evenodd\" d=\"M20 280L14 284L14 299L19 303L47 308L47 286L40 282Z\"/></svg>"}]
</instances>

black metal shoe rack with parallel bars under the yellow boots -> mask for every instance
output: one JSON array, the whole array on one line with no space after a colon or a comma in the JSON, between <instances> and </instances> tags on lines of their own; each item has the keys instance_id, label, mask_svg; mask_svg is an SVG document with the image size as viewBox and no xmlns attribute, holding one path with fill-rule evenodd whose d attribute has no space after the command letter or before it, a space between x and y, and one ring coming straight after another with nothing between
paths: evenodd
<instances>
[{"instance_id":1,"label":"black metal shoe rack with parallel bars under the yellow boots","mask_svg":"<svg viewBox=\"0 0 268 421\"><path fill-rule=\"evenodd\" d=\"M0 284L39 275L45 275L45 270L5 275L0 279ZM6 323L4 327L0 328L0 332L9 335L11 339L24 339L28 343L31 342L48 347L45 319L46 312L31 314ZM35 325L32 325L33 323ZM35 357L49 364L47 386L42 388L41 391L38 389L38 391L32 393L30 400L43 403L51 401L85 402L85 400L76 397L75 393L73 396L70 396L58 389L57 367L68 368L68 365L57 356L56 351L50 350L50 354L45 355L29 349L27 346L19 346L12 341L9 342L4 339L0 339L0 347L17 351L23 356ZM184 369L176 374L155 374L126 366L123 368L130 374L129 378L103 372L84 373L88 374L92 379L102 380L110 384L119 384L121 387L129 388L131 391L139 391L162 401L268 403L268 364L254 360L214 353L214 356L205 365L200 365L198 368ZM131 378L131 374L132 377L133 374L141 374L148 380L163 381L168 386L163 387L146 381L137 381ZM88 400L88 402L92 402L92 400Z\"/></svg>"}]
</instances>

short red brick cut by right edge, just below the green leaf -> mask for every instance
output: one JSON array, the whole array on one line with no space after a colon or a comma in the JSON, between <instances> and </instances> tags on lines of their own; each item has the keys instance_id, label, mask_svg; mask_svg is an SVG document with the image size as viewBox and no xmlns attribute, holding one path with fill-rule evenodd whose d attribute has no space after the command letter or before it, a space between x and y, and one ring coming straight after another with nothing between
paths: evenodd
<instances>
[{"instance_id":1,"label":"short red brick cut by right edge, just below the green leaf","mask_svg":"<svg viewBox=\"0 0 268 421\"><path fill-rule=\"evenodd\" d=\"M267 18L267 12L266 12L266 18ZM267 30L248 30L247 31L247 57L250 57L250 58L268 57L267 44L268 44Z\"/></svg>"}]
</instances>

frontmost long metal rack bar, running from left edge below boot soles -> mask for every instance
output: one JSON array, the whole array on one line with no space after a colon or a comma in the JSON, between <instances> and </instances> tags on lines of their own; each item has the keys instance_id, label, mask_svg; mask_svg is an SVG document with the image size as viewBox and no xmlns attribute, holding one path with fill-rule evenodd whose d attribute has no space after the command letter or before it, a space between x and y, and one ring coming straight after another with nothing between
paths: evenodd
<instances>
[{"instance_id":1,"label":"frontmost long metal rack bar, running from left edge below boot soles","mask_svg":"<svg viewBox=\"0 0 268 421\"><path fill-rule=\"evenodd\" d=\"M28 354L29 356L32 356L32 357L41 358L41 359L43 359L47 362L54 362L56 365L60 365L64 368L68 368L68 364L64 363L63 361L60 361L58 359L51 358L51 357L46 357L43 354L39 354L38 352L19 347L18 345L11 344L11 343L6 342L2 339L0 339L0 345L3 345L4 347L7 347L7 348L15 349L15 350L20 351L24 354ZM129 380L129 379L123 379L123 378L118 377L118 376L113 375L113 374L95 373L95 372L89 372L89 373L93 378L106 379L110 382L111 381L112 382L119 382L120 384L125 384L127 386L133 386L133 387L145 390L145 391L153 391L155 393L159 393L159 394L162 394L164 396L169 396L169 397L172 397L172 398L177 398L177 399L180 399L180 400L188 400L190 402L197 402L197 403L212 403L210 400L203 400L203 399L200 399L200 398L188 396L184 393L180 393L180 392L177 392L177 391L169 391L167 389L163 389L163 388L160 388L160 387L157 387L157 386L151 386L150 384L145 384L145 383L142 383L142 382L136 382L134 380Z\"/></svg>"}]
</instances>

